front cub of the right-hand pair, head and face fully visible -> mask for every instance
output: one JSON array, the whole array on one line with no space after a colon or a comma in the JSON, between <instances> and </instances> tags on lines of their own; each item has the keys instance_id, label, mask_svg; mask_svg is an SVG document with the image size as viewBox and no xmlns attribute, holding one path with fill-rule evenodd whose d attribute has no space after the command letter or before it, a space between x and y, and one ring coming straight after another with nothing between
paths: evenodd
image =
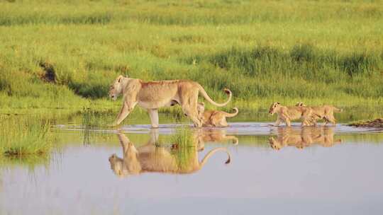
<instances>
[{"instance_id":1,"label":"front cub of the right-hand pair, head and face fully visible","mask_svg":"<svg viewBox=\"0 0 383 215\"><path fill-rule=\"evenodd\" d=\"M281 103L272 103L269 114L277 113L278 118L274 126L278 126L281 122L285 122L287 126L291 126L292 120L301 119L301 126L311 125L311 108L297 106L283 106Z\"/></svg>"}]
</instances>

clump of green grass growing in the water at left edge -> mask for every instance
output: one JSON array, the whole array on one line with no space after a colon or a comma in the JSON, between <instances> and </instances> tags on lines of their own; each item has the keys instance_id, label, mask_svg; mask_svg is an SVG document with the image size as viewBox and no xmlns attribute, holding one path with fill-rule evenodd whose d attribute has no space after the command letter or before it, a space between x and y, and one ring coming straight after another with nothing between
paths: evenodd
<instances>
[{"instance_id":1,"label":"clump of green grass growing in the water at left edge","mask_svg":"<svg viewBox=\"0 0 383 215\"><path fill-rule=\"evenodd\" d=\"M1 116L0 136L0 156L39 155L52 147L47 120Z\"/></svg>"}]
</instances>

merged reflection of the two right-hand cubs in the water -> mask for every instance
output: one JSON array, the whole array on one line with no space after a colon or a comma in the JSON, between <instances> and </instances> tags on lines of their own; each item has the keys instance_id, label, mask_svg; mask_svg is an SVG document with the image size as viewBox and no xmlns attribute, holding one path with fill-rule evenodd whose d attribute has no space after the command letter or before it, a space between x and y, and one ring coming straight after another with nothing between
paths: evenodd
<instances>
[{"instance_id":1,"label":"merged reflection of the two right-hand cubs in the water","mask_svg":"<svg viewBox=\"0 0 383 215\"><path fill-rule=\"evenodd\" d=\"M306 146L320 144L324 147L331 147L340 143L340 139L334 140L333 127L279 127L277 137L270 137L269 143L272 149L282 149L285 146L296 146L303 149Z\"/></svg>"}]
</instances>

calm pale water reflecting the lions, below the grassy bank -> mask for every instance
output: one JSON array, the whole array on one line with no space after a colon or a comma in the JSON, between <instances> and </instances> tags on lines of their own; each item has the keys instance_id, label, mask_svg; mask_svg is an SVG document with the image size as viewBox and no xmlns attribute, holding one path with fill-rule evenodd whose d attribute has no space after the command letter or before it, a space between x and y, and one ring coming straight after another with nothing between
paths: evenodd
<instances>
[{"instance_id":1,"label":"calm pale water reflecting the lions, below the grassy bank","mask_svg":"<svg viewBox=\"0 0 383 215\"><path fill-rule=\"evenodd\" d=\"M183 126L59 125L48 161L0 168L0 214L383 214L377 130Z\"/></svg>"}]
</instances>

